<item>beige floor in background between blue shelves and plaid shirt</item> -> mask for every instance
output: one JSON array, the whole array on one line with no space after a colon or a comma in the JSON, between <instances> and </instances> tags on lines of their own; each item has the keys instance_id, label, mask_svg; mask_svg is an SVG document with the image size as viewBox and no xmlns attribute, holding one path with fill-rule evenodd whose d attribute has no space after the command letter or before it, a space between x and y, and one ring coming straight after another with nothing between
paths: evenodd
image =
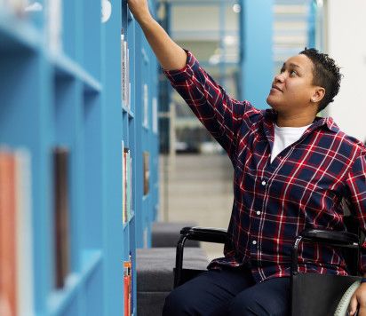
<instances>
[{"instance_id":1,"label":"beige floor in background between blue shelves and plaid shirt","mask_svg":"<svg viewBox=\"0 0 366 316\"><path fill-rule=\"evenodd\" d=\"M168 172L164 172L168 170ZM233 167L226 154L160 156L159 220L227 228L233 205ZM223 245L202 243L210 259Z\"/></svg>"}]
</instances>

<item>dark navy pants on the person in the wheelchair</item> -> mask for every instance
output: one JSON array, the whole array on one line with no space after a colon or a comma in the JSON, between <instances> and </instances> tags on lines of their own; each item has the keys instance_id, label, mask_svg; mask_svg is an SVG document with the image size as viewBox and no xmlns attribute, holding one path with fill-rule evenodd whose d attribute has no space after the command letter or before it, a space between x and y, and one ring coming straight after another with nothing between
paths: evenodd
<instances>
[{"instance_id":1,"label":"dark navy pants on the person in the wheelchair","mask_svg":"<svg viewBox=\"0 0 366 316\"><path fill-rule=\"evenodd\" d=\"M290 315L290 278L256 284L247 269L210 270L171 291L163 316Z\"/></svg>"}]
</instances>

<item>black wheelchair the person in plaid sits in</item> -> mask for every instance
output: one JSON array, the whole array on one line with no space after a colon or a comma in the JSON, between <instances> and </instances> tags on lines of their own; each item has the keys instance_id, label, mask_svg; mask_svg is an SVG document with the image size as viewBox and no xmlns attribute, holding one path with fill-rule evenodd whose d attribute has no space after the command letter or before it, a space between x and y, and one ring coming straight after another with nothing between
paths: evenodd
<instances>
[{"instance_id":1,"label":"black wheelchair the person in plaid sits in","mask_svg":"<svg viewBox=\"0 0 366 316\"><path fill-rule=\"evenodd\" d=\"M345 301L345 292L348 288L357 288L358 283L356 282L362 279L357 271L364 236L358 229L354 217L345 216L344 221L347 230L344 233L306 229L296 237L291 251L290 263L291 316L334 316L340 314L339 310L346 310L346 306L341 306L341 304L348 304L348 300ZM227 230L207 227L184 227L181 229L177 244L176 265L173 269L174 288L204 272L204 270L183 268L184 245L187 240L225 243ZM299 273L298 245L302 241L320 242L343 249L349 275ZM351 296L353 292L348 290L347 293L348 296ZM343 316L345 314L343 313Z\"/></svg>"}]
</instances>

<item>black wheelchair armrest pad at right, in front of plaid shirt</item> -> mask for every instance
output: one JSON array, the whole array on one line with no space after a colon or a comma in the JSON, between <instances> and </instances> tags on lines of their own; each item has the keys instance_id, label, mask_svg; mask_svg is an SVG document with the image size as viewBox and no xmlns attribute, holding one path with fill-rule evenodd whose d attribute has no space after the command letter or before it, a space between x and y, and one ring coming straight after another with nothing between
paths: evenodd
<instances>
[{"instance_id":1,"label":"black wheelchair armrest pad at right, in front of plaid shirt","mask_svg":"<svg viewBox=\"0 0 366 316\"><path fill-rule=\"evenodd\" d=\"M335 232L324 229L306 229L300 233L303 240L329 243L339 247L355 246L359 243L359 237L354 233Z\"/></svg>"}]
</instances>

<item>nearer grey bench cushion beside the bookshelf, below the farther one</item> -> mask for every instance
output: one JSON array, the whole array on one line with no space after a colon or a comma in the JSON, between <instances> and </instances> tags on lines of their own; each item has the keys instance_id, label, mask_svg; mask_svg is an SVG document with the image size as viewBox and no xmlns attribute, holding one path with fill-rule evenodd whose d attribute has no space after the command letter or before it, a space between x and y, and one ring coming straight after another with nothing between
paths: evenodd
<instances>
[{"instance_id":1,"label":"nearer grey bench cushion beside the bookshelf, below the farther one","mask_svg":"<svg viewBox=\"0 0 366 316\"><path fill-rule=\"evenodd\" d=\"M138 292L169 292L173 288L173 268L176 248L149 248L136 250ZM184 249L183 266L205 270L209 260L201 248Z\"/></svg>"}]
</instances>

